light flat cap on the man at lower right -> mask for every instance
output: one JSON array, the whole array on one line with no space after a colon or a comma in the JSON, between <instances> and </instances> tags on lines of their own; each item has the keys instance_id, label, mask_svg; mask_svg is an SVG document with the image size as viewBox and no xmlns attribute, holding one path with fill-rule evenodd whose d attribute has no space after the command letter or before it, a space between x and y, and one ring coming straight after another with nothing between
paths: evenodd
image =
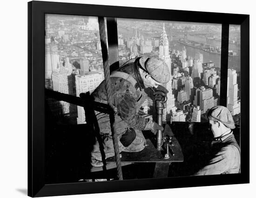
<instances>
[{"instance_id":1,"label":"light flat cap on the man at lower right","mask_svg":"<svg viewBox=\"0 0 256 198\"><path fill-rule=\"evenodd\" d=\"M216 106L209 110L208 119L212 121L220 121L228 128L236 128L233 116L229 109L223 106Z\"/></svg>"}]
</instances>

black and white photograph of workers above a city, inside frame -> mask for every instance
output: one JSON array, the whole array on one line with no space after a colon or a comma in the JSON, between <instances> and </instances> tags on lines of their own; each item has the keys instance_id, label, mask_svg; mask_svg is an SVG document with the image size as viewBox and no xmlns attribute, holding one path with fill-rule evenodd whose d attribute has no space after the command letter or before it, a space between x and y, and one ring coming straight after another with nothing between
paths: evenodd
<instances>
[{"instance_id":1,"label":"black and white photograph of workers above a city, inside frame","mask_svg":"<svg viewBox=\"0 0 256 198\"><path fill-rule=\"evenodd\" d=\"M47 181L240 173L240 43L222 75L221 24L46 14Z\"/></svg>"}]
</instances>

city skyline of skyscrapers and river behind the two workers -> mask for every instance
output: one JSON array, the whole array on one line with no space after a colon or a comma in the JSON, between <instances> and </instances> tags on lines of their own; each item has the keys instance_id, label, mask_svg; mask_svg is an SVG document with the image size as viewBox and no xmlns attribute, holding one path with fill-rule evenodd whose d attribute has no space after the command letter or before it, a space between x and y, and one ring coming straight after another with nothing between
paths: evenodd
<instances>
[{"instance_id":1,"label":"city skyline of skyscrapers and river behind the two workers","mask_svg":"<svg viewBox=\"0 0 256 198\"><path fill-rule=\"evenodd\" d=\"M129 23L128 21L129 19L117 19L120 65L138 56L159 57L168 65L172 74L170 81L165 85L169 93L163 121L205 121L204 114L207 110L219 104L221 75L220 68L216 66L216 62L220 62L220 56L217 57L216 62L210 62L209 55L204 55L206 53L210 55L212 53L212 56L218 55L220 46L213 44L219 42L221 25L147 20L140 23L142 20L132 21L131 19ZM160 31L161 23L162 32ZM122 32L126 26L130 26L130 30L124 34ZM149 31L148 28L152 26L154 29ZM193 36L198 37L195 43L189 40L192 39L189 33L203 31L205 33L213 29L215 31L207 33L205 38L201 34ZM238 28L235 28L235 31L238 31ZM170 35L168 35L169 32ZM174 32L173 36L172 32ZM185 38L181 38L180 35ZM206 43L200 43L202 39L205 39ZM237 38L231 39L230 42L234 43L232 44L234 46L239 46ZM47 14L45 44L45 76L48 89L61 93L70 90L67 94L79 96L82 92L92 92L104 80L96 17L62 17L62 15ZM177 45L183 45L180 51L175 49ZM194 56L192 56L193 47L196 49ZM236 57L237 52L232 51L231 54L230 50L230 56ZM64 76L60 77L60 73ZM228 87L227 107L232 111L232 115L238 115L240 85L235 82L236 70L232 70L232 75L228 77L230 87ZM61 88L57 89L57 85ZM81 86L83 89L80 89ZM148 106L144 106L147 109L146 112L151 104L152 102L148 99ZM76 111L74 109L68 111L70 107L65 103L61 103L61 106L63 114L73 113L73 116L77 117L77 123L85 123L85 118L82 116L83 109L77 107Z\"/></svg>"}]
</instances>

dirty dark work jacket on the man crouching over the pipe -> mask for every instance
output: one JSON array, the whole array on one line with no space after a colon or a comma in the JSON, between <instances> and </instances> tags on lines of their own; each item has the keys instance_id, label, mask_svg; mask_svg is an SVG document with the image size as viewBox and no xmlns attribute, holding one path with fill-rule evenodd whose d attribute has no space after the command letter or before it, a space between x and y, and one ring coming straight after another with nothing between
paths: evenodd
<instances>
[{"instance_id":1,"label":"dirty dark work jacket on the man crouching over the pipe","mask_svg":"<svg viewBox=\"0 0 256 198\"><path fill-rule=\"evenodd\" d=\"M117 114L129 127L142 130L148 120L141 117L138 111L146 100L147 94L144 91L145 86L139 72L139 58L129 60L116 70L131 76L135 79L135 83L131 83L131 81L125 80L123 77L116 77L118 75L115 75L115 77L110 76L110 101L117 108ZM96 102L107 103L105 81L106 79L92 93Z\"/></svg>"}]
</instances>

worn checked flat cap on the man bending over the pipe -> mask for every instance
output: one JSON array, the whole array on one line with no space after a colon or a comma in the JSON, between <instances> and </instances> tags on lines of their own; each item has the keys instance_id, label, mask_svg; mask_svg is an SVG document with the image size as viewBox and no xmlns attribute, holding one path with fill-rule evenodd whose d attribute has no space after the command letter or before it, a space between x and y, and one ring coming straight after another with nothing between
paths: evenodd
<instances>
[{"instance_id":1,"label":"worn checked flat cap on the man bending over the pipe","mask_svg":"<svg viewBox=\"0 0 256 198\"><path fill-rule=\"evenodd\" d=\"M158 83L168 83L170 72L168 65L160 58L140 57L141 67Z\"/></svg>"}]
</instances>

